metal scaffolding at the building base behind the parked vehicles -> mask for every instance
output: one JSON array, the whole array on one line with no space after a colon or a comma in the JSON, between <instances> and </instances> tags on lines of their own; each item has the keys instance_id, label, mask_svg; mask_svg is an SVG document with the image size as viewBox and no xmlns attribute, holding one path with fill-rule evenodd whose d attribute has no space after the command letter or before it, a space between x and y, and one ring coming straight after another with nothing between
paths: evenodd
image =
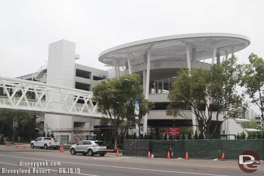
<instances>
[{"instance_id":1,"label":"metal scaffolding at the building base behind the parked vehicles","mask_svg":"<svg viewBox=\"0 0 264 176\"><path fill-rule=\"evenodd\" d=\"M76 144L83 140L96 140L100 129L48 129L48 136L55 138L60 144Z\"/></svg>"}]
</instances>

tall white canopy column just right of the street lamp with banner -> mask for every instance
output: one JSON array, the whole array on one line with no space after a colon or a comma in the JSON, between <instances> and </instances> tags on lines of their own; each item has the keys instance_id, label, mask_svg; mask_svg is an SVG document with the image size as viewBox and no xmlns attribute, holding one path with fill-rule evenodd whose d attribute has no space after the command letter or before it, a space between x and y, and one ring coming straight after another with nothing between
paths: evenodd
<instances>
[{"instance_id":1,"label":"tall white canopy column just right of the street lamp with banner","mask_svg":"<svg viewBox=\"0 0 264 176\"><path fill-rule=\"evenodd\" d=\"M148 48L148 59L147 59L147 81L146 81L146 96L145 98L149 98L149 75L150 75L150 48ZM147 133L147 128L148 128L148 115L145 115L144 117L144 124L143 124L143 135L145 132Z\"/></svg>"}]
</instances>

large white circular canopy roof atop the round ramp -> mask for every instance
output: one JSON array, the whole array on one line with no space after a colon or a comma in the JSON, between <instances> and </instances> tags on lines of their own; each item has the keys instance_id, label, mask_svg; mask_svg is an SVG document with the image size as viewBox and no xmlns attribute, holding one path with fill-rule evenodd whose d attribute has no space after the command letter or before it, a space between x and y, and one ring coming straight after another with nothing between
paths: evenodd
<instances>
[{"instance_id":1,"label":"large white circular canopy roof atop the round ramp","mask_svg":"<svg viewBox=\"0 0 264 176\"><path fill-rule=\"evenodd\" d=\"M114 66L114 60L117 60L120 66L125 66L127 55L130 53L131 66L134 66L143 63L143 55L147 54L150 48L151 62L183 61L186 60L186 44L188 44L190 54L193 48L196 49L198 62L212 58L215 43L216 53L223 56L225 52L231 54L232 48L234 52L243 50L250 44L250 39L244 35L230 33L194 33L155 37L107 49L99 54L98 60L106 66Z\"/></svg>"}]
</instances>

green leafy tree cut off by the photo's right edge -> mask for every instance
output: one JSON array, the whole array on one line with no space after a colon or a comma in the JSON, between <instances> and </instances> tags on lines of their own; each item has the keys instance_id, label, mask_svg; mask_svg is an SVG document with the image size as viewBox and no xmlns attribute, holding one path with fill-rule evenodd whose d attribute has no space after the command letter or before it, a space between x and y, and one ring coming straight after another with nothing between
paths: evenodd
<instances>
[{"instance_id":1,"label":"green leafy tree cut off by the photo's right edge","mask_svg":"<svg viewBox=\"0 0 264 176\"><path fill-rule=\"evenodd\" d=\"M246 88L244 92L252 99L251 103L259 107L264 121L264 60L254 53L248 59L250 64L243 67L244 74L240 85Z\"/></svg>"}]
</instances>

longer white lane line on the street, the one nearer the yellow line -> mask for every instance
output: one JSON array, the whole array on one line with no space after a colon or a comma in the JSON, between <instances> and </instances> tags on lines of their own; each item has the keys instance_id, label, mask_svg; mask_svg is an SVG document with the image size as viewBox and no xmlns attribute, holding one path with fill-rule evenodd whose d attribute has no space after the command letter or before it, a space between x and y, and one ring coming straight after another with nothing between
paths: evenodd
<instances>
[{"instance_id":1,"label":"longer white lane line on the street, the one nearer the yellow line","mask_svg":"<svg viewBox=\"0 0 264 176\"><path fill-rule=\"evenodd\" d=\"M9 155L0 155L0 156L9 156ZM35 160L42 160L42 161L53 161L53 160L36 159L36 158L25 158L25 157L19 157L19 156L9 156L9 157L14 157L14 158L24 158L24 159L35 159ZM192 172L176 172L176 171L168 171L168 170L154 170L154 169L127 168L127 167L119 167L119 166L107 166L107 165L97 165L97 164L72 163L72 162L65 162L65 161L53 161L53 162L61 162L61 163L69 163L69 164L82 164L82 165L100 166L100 167L122 168L122 169L135 169L135 170L148 170L148 171L158 171L158 172L171 172L171 173L195 174L195 175L230 176L230 175L216 175L216 174L200 174L200 173L192 173Z\"/></svg>"}]
</instances>

